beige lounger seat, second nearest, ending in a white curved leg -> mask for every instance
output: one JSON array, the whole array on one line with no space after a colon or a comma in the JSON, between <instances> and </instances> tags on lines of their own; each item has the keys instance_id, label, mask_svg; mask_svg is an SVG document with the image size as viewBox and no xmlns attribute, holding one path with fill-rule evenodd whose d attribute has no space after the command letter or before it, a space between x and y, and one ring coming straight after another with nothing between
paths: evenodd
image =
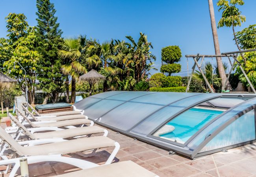
<instances>
[{"instance_id":1,"label":"beige lounger seat, second nearest, ending in a white curved leg","mask_svg":"<svg viewBox=\"0 0 256 177\"><path fill-rule=\"evenodd\" d=\"M63 142L42 144L39 146L25 146L22 153L26 155L50 155L50 154L69 154L90 149L115 146L115 141L106 136L94 136L90 138L80 138Z\"/></svg>"}]
</instances>

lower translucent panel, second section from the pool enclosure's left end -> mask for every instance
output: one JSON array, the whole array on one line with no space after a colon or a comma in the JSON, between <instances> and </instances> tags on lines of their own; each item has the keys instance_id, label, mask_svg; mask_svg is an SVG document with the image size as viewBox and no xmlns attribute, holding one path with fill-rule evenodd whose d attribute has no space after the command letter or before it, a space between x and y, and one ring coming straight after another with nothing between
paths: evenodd
<instances>
[{"instance_id":1,"label":"lower translucent panel, second section from the pool enclosure's left end","mask_svg":"<svg viewBox=\"0 0 256 177\"><path fill-rule=\"evenodd\" d=\"M114 107L117 107L122 103L124 103L124 101L101 100L98 103L95 103L94 105L85 109L83 114L88 116L88 118L90 119L96 120L109 110L113 109Z\"/></svg>"}]
</instances>

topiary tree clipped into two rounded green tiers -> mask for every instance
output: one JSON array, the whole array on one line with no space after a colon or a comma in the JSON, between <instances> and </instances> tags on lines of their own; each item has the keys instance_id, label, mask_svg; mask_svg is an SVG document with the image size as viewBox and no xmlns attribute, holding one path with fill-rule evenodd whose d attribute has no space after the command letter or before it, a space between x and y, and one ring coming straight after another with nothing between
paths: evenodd
<instances>
[{"instance_id":1,"label":"topiary tree clipped into two rounded green tiers","mask_svg":"<svg viewBox=\"0 0 256 177\"><path fill-rule=\"evenodd\" d=\"M161 56L162 63L166 63L160 68L162 73L167 73L168 76L171 76L173 73L180 72L181 65L177 62L180 61L182 54L179 46L167 46L162 48Z\"/></svg>"}]
</instances>

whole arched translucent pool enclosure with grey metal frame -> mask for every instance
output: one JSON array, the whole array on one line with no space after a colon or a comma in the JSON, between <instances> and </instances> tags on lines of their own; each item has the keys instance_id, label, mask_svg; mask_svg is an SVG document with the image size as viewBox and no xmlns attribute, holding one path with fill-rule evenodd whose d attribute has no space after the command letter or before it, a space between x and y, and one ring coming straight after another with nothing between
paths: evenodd
<instances>
[{"instance_id":1,"label":"whole arched translucent pool enclosure with grey metal frame","mask_svg":"<svg viewBox=\"0 0 256 177\"><path fill-rule=\"evenodd\" d=\"M74 107L96 124L193 159L256 142L255 97L111 91Z\"/></svg>"}]
</instances>

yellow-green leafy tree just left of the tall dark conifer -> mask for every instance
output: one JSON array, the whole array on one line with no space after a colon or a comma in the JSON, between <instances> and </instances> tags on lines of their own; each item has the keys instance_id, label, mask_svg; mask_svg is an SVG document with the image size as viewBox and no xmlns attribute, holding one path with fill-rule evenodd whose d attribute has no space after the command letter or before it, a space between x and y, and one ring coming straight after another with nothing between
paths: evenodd
<instances>
[{"instance_id":1,"label":"yellow-green leafy tree just left of the tall dark conifer","mask_svg":"<svg viewBox=\"0 0 256 177\"><path fill-rule=\"evenodd\" d=\"M25 91L25 75L19 65L14 67L14 62L18 61L26 70L28 83L28 100L34 103L35 99L35 69L37 61L41 55L35 50L36 34L33 27L29 27L24 14L9 13L6 17L7 22L7 37L4 44L4 53L8 58L4 61L4 70L11 76L17 79L21 89Z\"/></svg>"}]
</instances>

